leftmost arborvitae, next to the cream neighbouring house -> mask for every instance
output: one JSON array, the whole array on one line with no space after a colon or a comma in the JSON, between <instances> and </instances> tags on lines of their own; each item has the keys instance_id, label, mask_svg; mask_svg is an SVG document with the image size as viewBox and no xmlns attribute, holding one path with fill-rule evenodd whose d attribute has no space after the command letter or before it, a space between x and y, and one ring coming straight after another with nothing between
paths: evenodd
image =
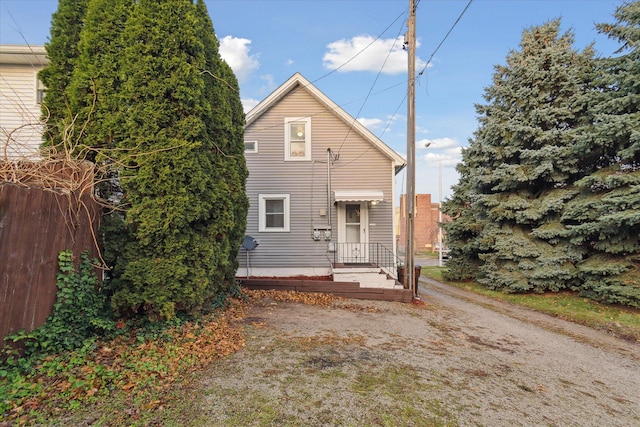
<instances>
[{"instance_id":1,"label":"leftmost arborvitae, next to the cream neighbouring house","mask_svg":"<svg viewBox=\"0 0 640 427\"><path fill-rule=\"evenodd\" d=\"M59 150L63 140L73 143L76 139L75 112L66 96L71 75L79 56L78 42L89 0L60 0L51 19L51 37L45 44L49 64L38 77L47 88L42 102L42 118L46 123L45 146ZM68 149L68 147L66 148Z\"/></svg>"}]
</instances>

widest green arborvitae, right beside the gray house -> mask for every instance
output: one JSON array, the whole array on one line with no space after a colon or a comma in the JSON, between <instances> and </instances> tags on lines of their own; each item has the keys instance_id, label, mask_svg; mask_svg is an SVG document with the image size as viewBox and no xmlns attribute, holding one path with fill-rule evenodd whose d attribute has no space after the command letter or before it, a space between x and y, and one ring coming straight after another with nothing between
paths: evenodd
<instances>
[{"instance_id":1,"label":"widest green arborvitae, right beside the gray house","mask_svg":"<svg viewBox=\"0 0 640 427\"><path fill-rule=\"evenodd\" d=\"M133 240L113 297L122 312L170 318L198 310L216 297L238 250L238 122L230 92L205 79L217 42L205 46L203 28L190 0L139 0L123 33L127 138L118 148L127 153L121 183Z\"/></svg>"}]
</instances>

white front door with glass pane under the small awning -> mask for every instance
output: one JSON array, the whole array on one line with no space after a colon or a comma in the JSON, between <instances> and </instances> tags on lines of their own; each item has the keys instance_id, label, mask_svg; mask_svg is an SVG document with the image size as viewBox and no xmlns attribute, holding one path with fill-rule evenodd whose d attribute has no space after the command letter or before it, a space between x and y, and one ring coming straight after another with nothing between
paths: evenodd
<instances>
[{"instance_id":1,"label":"white front door with glass pane under the small awning","mask_svg":"<svg viewBox=\"0 0 640 427\"><path fill-rule=\"evenodd\" d=\"M338 209L338 250L343 263L369 262L367 202L344 202Z\"/></svg>"}]
</instances>

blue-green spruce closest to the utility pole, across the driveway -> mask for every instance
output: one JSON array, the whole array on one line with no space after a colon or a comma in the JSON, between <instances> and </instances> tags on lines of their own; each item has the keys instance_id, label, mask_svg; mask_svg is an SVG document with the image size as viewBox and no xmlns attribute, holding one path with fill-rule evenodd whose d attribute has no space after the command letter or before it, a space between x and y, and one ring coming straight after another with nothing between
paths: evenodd
<instances>
[{"instance_id":1,"label":"blue-green spruce closest to the utility pole, across the driveway","mask_svg":"<svg viewBox=\"0 0 640 427\"><path fill-rule=\"evenodd\" d=\"M555 20L526 30L520 50L496 67L488 103L476 106L480 127L463 153L461 194L446 205L453 276L477 263L477 280L491 288L577 283L582 248L569 244L560 215L583 173L576 135L590 123L584 94L593 51L572 49L573 34L559 35L559 27ZM459 238L463 244L452 242Z\"/></svg>"}]
</instances>

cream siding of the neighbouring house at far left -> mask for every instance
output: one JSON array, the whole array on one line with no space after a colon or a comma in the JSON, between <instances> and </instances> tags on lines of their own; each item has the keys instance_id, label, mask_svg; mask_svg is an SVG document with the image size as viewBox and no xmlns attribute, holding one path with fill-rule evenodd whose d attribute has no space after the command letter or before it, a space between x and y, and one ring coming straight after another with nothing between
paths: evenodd
<instances>
[{"instance_id":1,"label":"cream siding of the neighbouring house at far left","mask_svg":"<svg viewBox=\"0 0 640 427\"><path fill-rule=\"evenodd\" d=\"M34 158L42 142L43 126L37 102L41 66L0 64L0 156Z\"/></svg>"}]
</instances>

